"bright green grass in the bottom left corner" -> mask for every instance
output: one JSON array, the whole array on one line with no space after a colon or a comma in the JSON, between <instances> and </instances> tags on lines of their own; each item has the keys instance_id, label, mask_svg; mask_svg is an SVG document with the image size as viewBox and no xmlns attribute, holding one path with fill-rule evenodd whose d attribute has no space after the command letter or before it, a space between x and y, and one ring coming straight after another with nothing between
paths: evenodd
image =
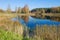
<instances>
[{"instance_id":1,"label":"bright green grass in the bottom left corner","mask_svg":"<svg viewBox=\"0 0 60 40\"><path fill-rule=\"evenodd\" d=\"M22 40L23 36L13 32L0 30L0 40Z\"/></svg>"}]
</instances>

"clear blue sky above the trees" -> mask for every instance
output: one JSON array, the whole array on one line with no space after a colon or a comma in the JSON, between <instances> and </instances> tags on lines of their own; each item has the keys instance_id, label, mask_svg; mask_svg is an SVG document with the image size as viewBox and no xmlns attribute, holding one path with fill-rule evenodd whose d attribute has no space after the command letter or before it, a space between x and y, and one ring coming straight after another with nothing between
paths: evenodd
<instances>
[{"instance_id":1,"label":"clear blue sky above the trees","mask_svg":"<svg viewBox=\"0 0 60 40\"><path fill-rule=\"evenodd\" d=\"M6 10L8 5L10 5L12 10L16 7L24 7L28 5L29 9L34 8L49 8L60 6L60 0L0 0L0 9Z\"/></svg>"}]
</instances>

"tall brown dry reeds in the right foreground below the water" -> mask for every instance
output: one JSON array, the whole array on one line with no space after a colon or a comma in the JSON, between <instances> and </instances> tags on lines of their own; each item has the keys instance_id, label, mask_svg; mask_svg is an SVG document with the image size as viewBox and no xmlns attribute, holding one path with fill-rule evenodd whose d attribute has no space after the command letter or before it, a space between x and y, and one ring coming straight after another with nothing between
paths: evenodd
<instances>
[{"instance_id":1,"label":"tall brown dry reeds in the right foreground below the water","mask_svg":"<svg viewBox=\"0 0 60 40\"><path fill-rule=\"evenodd\" d=\"M33 40L60 40L60 26L37 26Z\"/></svg>"}]
</instances>

